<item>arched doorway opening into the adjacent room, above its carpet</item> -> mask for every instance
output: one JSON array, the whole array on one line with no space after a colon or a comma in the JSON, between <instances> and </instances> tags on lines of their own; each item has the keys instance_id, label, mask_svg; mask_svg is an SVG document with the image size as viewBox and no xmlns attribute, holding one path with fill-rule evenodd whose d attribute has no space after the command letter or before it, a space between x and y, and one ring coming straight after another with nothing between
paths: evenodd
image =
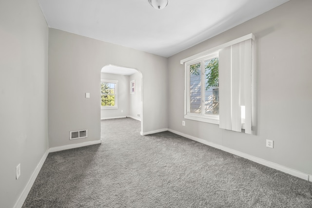
<instances>
[{"instance_id":1,"label":"arched doorway opening into the adjacent room, above its carpet","mask_svg":"<svg viewBox=\"0 0 312 208\"><path fill-rule=\"evenodd\" d=\"M133 68L106 65L101 69L100 119L130 117L143 130L142 73Z\"/></svg>"}]
</instances>

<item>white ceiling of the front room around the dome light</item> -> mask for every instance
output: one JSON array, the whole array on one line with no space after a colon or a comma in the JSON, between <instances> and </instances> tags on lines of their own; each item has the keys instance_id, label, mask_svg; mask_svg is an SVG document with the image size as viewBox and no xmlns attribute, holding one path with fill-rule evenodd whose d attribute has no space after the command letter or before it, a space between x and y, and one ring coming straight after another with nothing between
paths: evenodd
<instances>
[{"instance_id":1,"label":"white ceiling of the front room around the dome light","mask_svg":"<svg viewBox=\"0 0 312 208\"><path fill-rule=\"evenodd\" d=\"M49 27L170 57L288 0L38 0Z\"/></svg>"}]
</instances>

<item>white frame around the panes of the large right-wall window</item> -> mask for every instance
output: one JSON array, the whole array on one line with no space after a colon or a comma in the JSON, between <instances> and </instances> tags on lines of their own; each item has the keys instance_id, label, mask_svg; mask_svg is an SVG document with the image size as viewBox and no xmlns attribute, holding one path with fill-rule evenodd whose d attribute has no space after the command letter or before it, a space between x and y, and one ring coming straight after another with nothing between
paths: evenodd
<instances>
[{"instance_id":1,"label":"white frame around the panes of the large right-wall window","mask_svg":"<svg viewBox=\"0 0 312 208\"><path fill-rule=\"evenodd\" d=\"M204 62L213 58L219 57L218 51L210 53L206 56L195 58L193 60L185 62L185 95L184 95L184 118L207 122L212 124L219 124L219 115L208 115L205 114L205 69ZM190 66L196 63L201 63L201 113L191 113L190 103Z\"/></svg>"}]
</instances>

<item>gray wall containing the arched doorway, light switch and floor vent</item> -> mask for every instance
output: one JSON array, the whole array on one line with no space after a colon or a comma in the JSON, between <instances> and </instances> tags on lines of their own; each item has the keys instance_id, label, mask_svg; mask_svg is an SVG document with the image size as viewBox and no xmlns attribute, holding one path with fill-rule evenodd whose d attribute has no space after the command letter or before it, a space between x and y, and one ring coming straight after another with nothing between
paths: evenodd
<instances>
[{"instance_id":1,"label":"gray wall containing the arched doorway, light switch and floor vent","mask_svg":"<svg viewBox=\"0 0 312 208\"><path fill-rule=\"evenodd\" d=\"M143 132L168 127L167 58L49 29L50 147L100 139L100 71L108 64L142 73ZM69 131L80 129L88 138L69 140Z\"/></svg>"}]
</instances>

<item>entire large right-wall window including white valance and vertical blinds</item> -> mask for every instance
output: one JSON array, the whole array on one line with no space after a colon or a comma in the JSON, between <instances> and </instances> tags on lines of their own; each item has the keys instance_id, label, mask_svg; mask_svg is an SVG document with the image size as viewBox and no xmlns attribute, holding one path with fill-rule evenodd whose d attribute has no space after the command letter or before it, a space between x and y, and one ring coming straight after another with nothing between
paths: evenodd
<instances>
[{"instance_id":1,"label":"entire large right-wall window including white valance and vertical blinds","mask_svg":"<svg viewBox=\"0 0 312 208\"><path fill-rule=\"evenodd\" d=\"M249 34L182 59L184 118L252 133L253 40Z\"/></svg>"}]
</instances>

